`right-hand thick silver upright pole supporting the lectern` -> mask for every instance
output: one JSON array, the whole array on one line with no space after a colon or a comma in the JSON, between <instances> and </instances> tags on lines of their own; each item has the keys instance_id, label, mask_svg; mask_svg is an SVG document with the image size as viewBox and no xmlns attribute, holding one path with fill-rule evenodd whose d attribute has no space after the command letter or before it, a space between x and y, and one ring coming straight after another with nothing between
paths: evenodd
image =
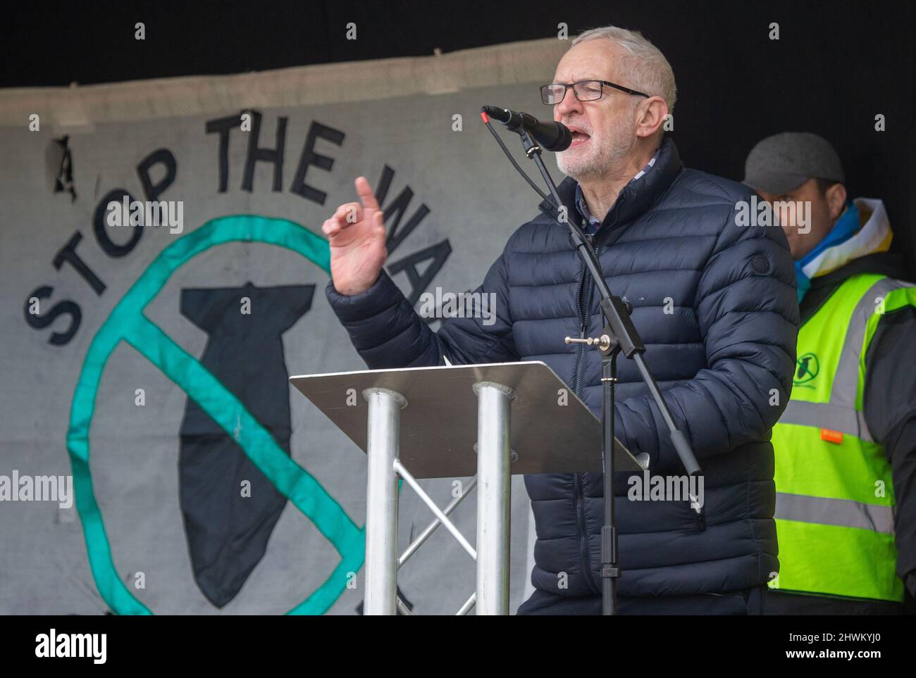
<instances>
[{"instance_id":1,"label":"right-hand thick silver upright pole supporting the lectern","mask_svg":"<svg viewBox=\"0 0 916 678\"><path fill-rule=\"evenodd\" d=\"M477 394L478 615L509 608L509 444L515 393L494 382L474 384Z\"/></svg>"}]
</instances>

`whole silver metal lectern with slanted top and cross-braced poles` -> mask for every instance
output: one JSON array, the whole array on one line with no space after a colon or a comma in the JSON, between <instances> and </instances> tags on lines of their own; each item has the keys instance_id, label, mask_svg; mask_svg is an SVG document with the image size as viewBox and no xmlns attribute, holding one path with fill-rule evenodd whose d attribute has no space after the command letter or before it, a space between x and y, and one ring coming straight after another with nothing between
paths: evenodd
<instances>
[{"instance_id":1,"label":"whole silver metal lectern with slanted top and cross-braced poles","mask_svg":"<svg viewBox=\"0 0 916 678\"><path fill-rule=\"evenodd\" d=\"M398 568L444 525L476 562L476 591L459 615L508 613L509 479L519 473L601 471L601 424L543 362L368 370L290 377L368 457L365 614L409 613ZM474 419L476 429L474 430ZM615 440L617 470L639 470ZM417 479L473 476L440 509ZM398 556L398 478L435 520ZM472 546L449 514L477 486Z\"/></svg>"}]
</instances>

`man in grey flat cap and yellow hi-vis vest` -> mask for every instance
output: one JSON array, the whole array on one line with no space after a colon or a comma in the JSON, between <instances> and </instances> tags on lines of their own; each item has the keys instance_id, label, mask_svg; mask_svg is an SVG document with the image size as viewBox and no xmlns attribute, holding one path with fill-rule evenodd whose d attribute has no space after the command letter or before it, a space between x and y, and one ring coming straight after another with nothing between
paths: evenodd
<instances>
[{"instance_id":1,"label":"man in grey flat cap and yellow hi-vis vest","mask_svg":"<svg viewBox=\"0 0 916 678\"><path fill-rule=\"evenodd\" d=\"M780 572L769 614L894 614L916 596L916 287L879 199L848 199L833 146L769 136L744 183L795 260L801 328L773 428Z\"/></svg>"}]
</instances>

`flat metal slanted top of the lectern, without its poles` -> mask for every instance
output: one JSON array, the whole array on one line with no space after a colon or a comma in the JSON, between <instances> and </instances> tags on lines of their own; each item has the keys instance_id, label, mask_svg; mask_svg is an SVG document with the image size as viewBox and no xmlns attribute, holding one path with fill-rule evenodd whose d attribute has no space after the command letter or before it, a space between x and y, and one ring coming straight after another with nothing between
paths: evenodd
<instances>
[{"instance_id":1,"label":"flat metal slanted top of the lectern, without its poles","mask_svg":"<svg viewBox=\"0 0 916 678\"><path fill-rule=\"evenodd\" d=\"M289 382L364 452L368 405L363 391L380 387L403 395L408 404L400 413L398 457L415 478L476 473L475 382L500 383L516 394L513 474L601 471L601 422L540 361L312 374ZM615 443L616 470L642 468Z\"/></svg>"}]
</instances>

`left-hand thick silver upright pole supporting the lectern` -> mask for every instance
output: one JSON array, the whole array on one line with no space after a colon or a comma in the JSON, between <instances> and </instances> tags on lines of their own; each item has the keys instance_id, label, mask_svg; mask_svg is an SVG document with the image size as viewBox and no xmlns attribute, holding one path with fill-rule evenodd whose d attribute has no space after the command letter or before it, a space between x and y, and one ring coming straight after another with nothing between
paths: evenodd
<instances>
[{"instance_id":1,"label":"left-hand thick silver upright pole supporting the lectern","mask_svg":"<svg viewBox=\"0 0 916 678\"><path fill-rule=\"evenodd\" d=\"M384 388L365 389L369 404L365 492L366 615L394 615L398 596L398 435L407 400Z\"/></svg>"}]
</instances>

